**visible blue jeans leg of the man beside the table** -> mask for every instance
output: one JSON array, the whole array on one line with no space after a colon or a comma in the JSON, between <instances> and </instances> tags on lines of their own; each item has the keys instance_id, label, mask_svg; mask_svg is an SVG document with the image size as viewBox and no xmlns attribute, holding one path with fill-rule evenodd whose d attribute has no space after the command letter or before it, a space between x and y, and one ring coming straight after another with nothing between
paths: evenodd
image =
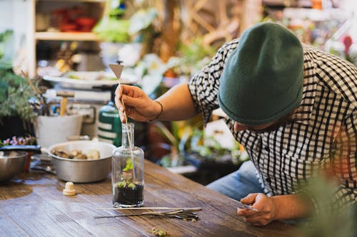
<instances>
[{"instance_id":1,"label":"visible blue jeans leg of the man beside the table","mask_svg":"<svg viewBox=\"0 0 357 237\"><path fill-rule=\"evenodd\" d=\"M256 167L251 161L244 162L236 172L217 179L206 187L238 201L251 193L264 193L256 176Z\"/></svg>"}]
</instances>

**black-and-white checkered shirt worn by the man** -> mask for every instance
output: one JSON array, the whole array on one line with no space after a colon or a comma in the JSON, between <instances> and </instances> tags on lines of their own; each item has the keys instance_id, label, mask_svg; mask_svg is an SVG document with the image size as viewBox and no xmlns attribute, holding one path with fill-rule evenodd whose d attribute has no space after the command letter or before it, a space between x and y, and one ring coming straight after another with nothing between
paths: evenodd
<instances>
[{"instance_id":1,"label":"black-and-white checkered shirt worn by the man","mask_svg":"<svg viewBox=\"0 0 357 237\"><path fill-rule=\"evenodd\" d=\"M221 73L237 47L238 39L223 45L189 81L196 110L205 122L218 108ZM303 58L303 99L293 122L261 134L234 132L229 118L226 124L248 152L268 196L298 192L299 185L323 167L338 179L336 204L356 204L357 68L306 45Z\"/></svg>"}]
</instances>

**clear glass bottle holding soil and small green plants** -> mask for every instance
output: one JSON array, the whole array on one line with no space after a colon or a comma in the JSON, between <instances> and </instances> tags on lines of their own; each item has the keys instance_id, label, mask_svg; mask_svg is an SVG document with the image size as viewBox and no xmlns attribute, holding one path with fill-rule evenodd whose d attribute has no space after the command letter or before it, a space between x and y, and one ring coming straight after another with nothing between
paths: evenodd
<instances>
[{"instance_id":1,"label":"clear glass bottle holding soil and small green plants","mask_svg":"<svg viewBox=\"0 0 357 237\"><path fill-rule=\"evenodd\" d=\"M134 123L121 124L121 147L114 149L111 184L115 207L144 205L144 152L134 146Z\"/></svg>"}]
</instances>

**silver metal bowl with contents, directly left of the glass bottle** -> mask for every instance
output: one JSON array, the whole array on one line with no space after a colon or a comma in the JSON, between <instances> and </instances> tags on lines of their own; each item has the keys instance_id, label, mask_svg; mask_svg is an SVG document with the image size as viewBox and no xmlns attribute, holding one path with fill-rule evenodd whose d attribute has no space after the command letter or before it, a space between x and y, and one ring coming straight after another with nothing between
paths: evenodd
<instances>
[{"instance_id":1,"label":"silver metal bowl with contents, directly left of the glass bottle","mask_svg":"<svg viewBox=\"0 0 357 237\"><path fill-rule=\"evenodd\" d=\"M106 142L71 141L54 144L49 147L54 169L59 179L74 183L89 183L105 179L111 172L111 154L116 147ZM100 159L67 159L51 153L54 149L81 150L86 153L89 149L97 149Z\"/></svg>"}]
</instances>

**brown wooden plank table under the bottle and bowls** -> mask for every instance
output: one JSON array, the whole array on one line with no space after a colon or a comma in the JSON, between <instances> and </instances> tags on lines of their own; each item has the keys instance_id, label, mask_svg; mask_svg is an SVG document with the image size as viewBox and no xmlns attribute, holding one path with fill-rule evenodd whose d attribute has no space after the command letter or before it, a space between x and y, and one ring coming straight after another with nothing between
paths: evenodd
<instances>
[{"instance_id":1,"label":"brown wooden plank table under the bottle and bowls","mask_svg":"<svg viewBox=\"0 0 357 237\"><path fill-rule=\"evenodd\" d=\"M99 210L112 207L109 177L75 184L76 196L64 196L65 182L53 174L29 172L20 177L0 184L0 236L154 236L153 227L169 231L170 236L293 236L294 228L281 222L256 227L241 221L233 199L148 161L145 206L200 206L198 221L152 216L94 218L117 214Z\"/></svg>"}]
</instances>

